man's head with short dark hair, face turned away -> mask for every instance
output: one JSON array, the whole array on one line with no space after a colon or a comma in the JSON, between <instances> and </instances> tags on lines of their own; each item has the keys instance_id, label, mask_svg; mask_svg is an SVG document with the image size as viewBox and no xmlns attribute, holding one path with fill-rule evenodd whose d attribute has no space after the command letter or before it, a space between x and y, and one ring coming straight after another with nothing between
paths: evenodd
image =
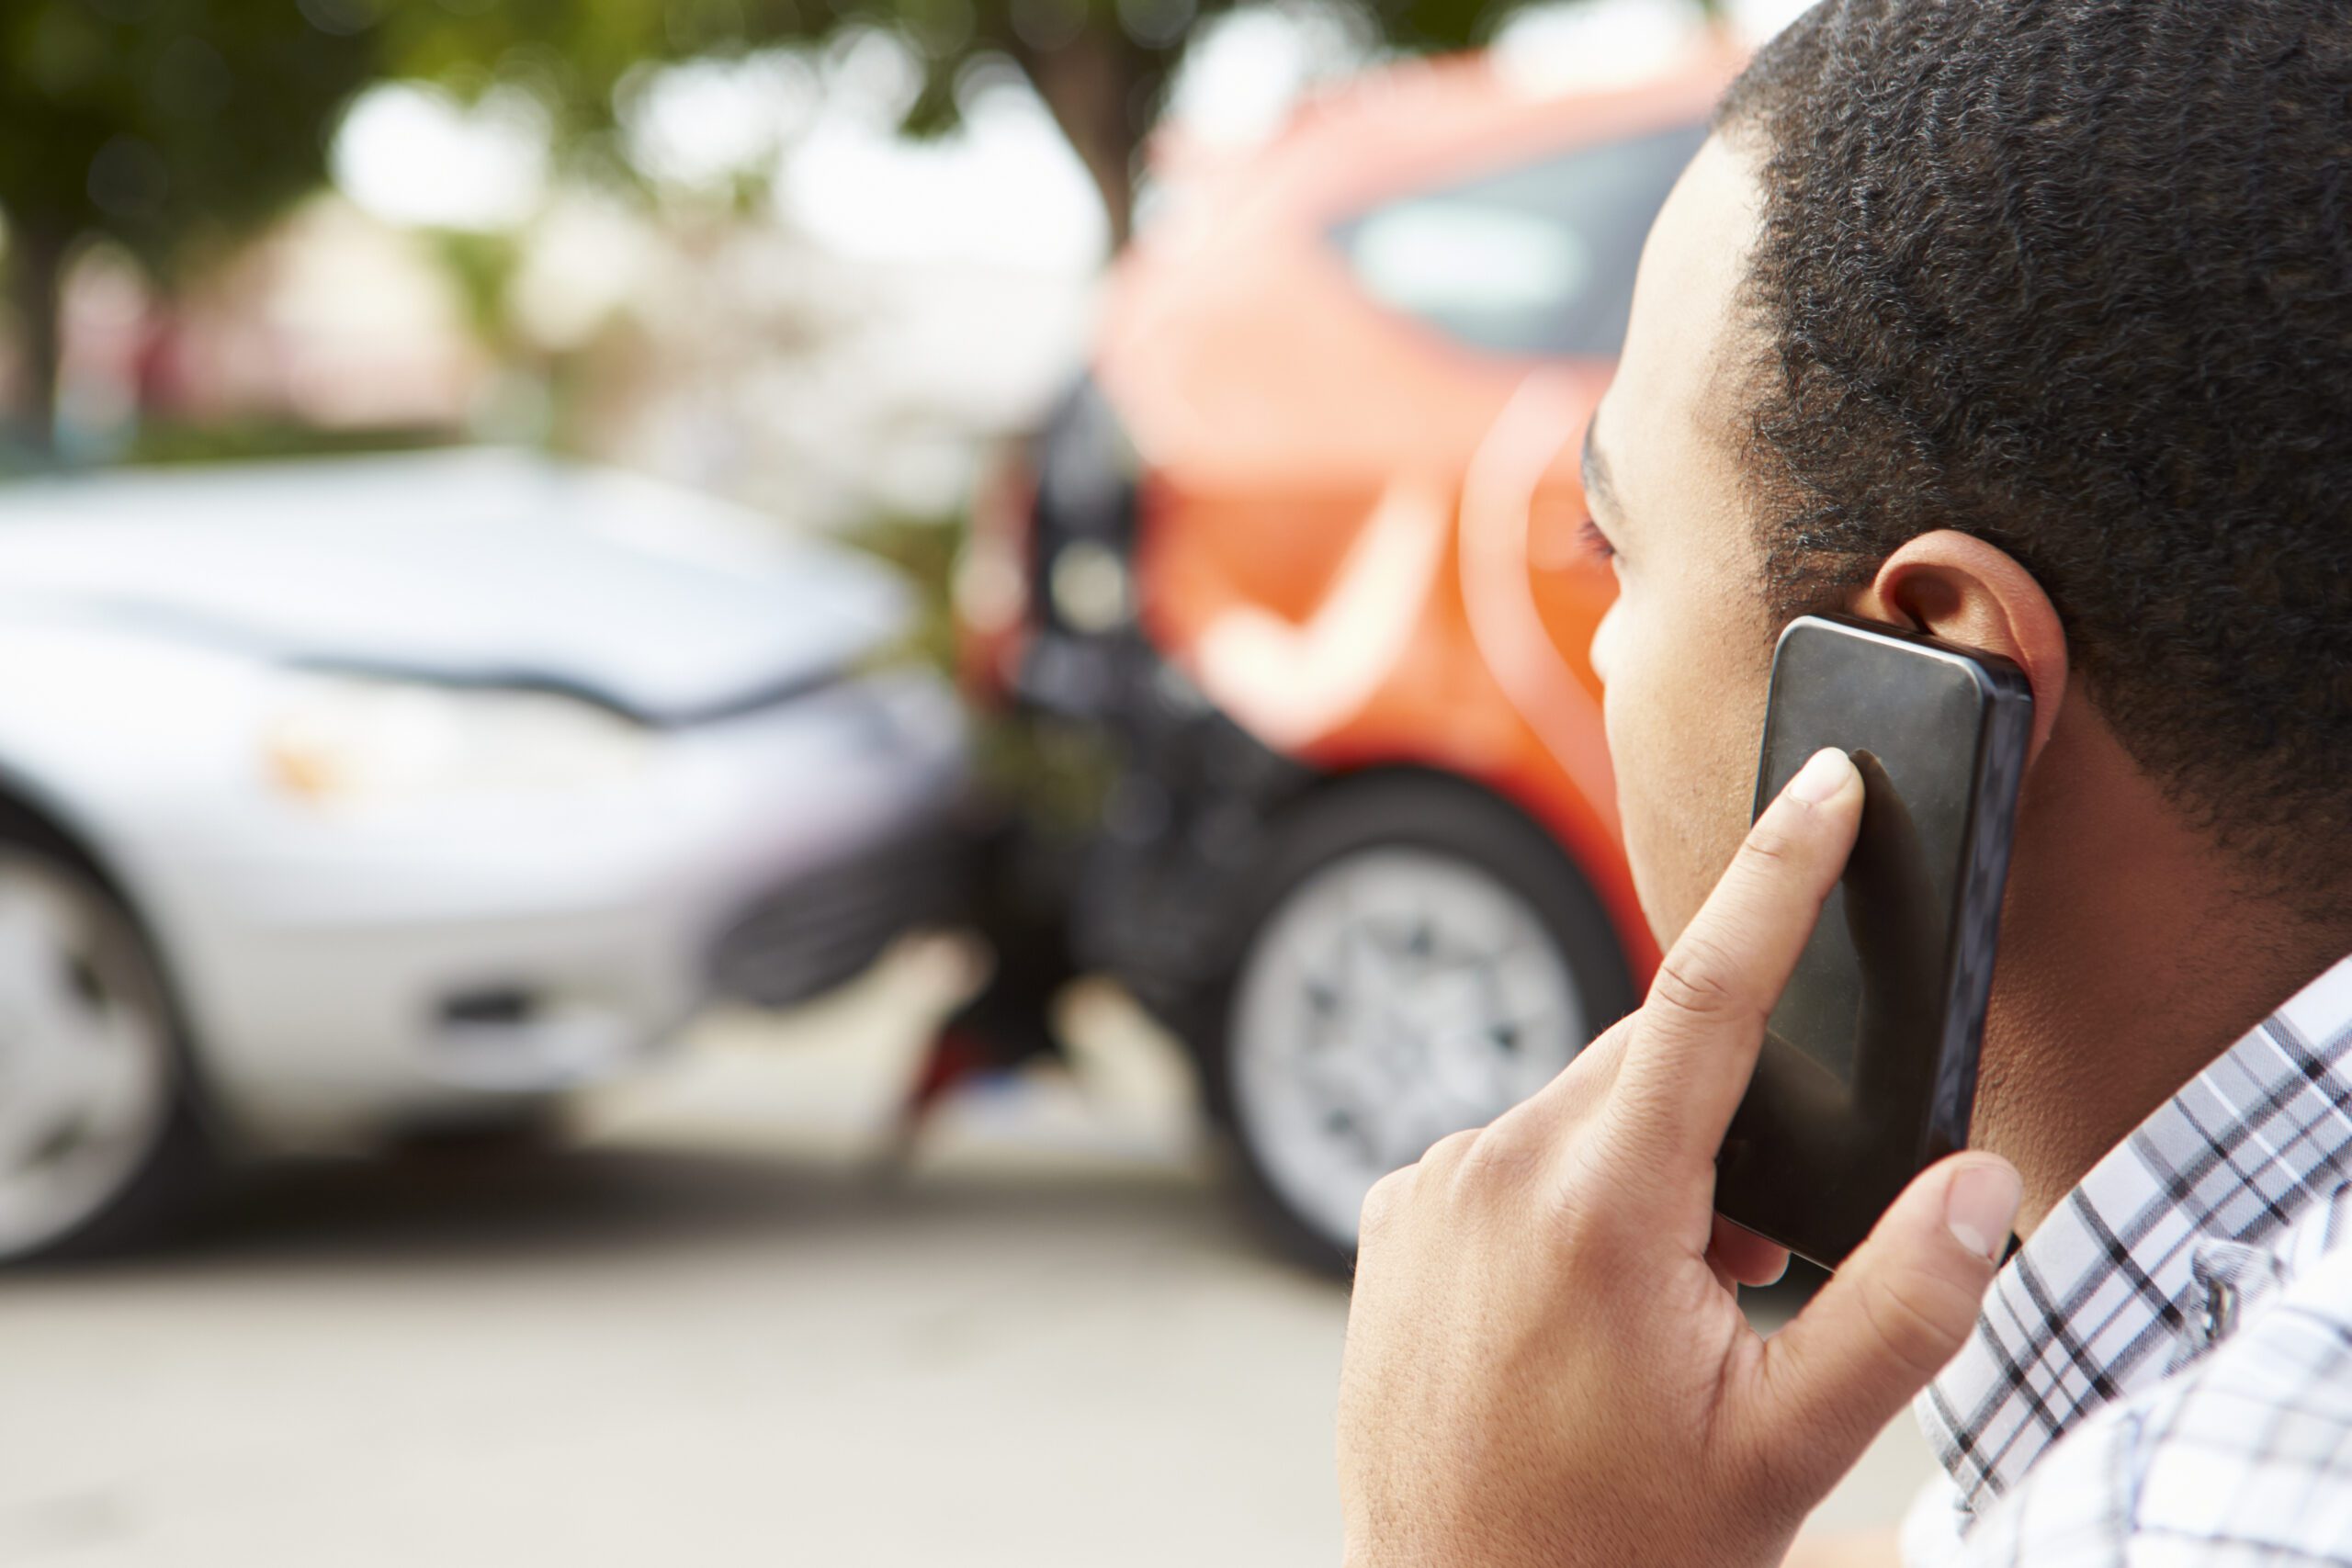
<instances>
[{"instance_id":1,"label":"man's head with short dark hair, face turned away","mask_svg":"<svg viewBox=\"0 0 2352 1568\"><path fill-rule=\"evenodd\" d=\"M2011 654L2037 750L2067 710L2249 889L2340 919L2352 14L1825 0L1661 214L1588 470L1663 933L1745 825L1806 609Z\"/></svg>"}]
</instances>

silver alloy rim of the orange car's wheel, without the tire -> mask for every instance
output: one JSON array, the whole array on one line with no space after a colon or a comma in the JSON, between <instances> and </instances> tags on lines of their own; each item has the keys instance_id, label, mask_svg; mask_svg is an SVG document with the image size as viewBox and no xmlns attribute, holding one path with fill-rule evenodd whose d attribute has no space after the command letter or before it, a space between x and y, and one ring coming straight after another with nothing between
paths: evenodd
<instances>
[{"instance_id":1,"label":"silver alloy rim of the orange car's wheel, without the tire","mask_svg":"<svg viewBox=\"0 0 2352 1568\"><path fill-rule=\"evenodd\" d=\"M1235 1114L1291 1211L1352 1248L1371 1185L1548 1084L1588 1011L1515 889L1442 851L1362 849L1298 882L1251 943Z\"/></svg>"}]
</instances>

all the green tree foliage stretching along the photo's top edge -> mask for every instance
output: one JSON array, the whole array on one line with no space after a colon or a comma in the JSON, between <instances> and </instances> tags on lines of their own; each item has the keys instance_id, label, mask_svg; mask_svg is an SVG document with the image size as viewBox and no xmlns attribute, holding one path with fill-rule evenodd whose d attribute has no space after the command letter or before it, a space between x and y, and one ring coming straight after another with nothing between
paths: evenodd
<instances>
[{"instance_id":1,"label":"all the green tree foliage stretching along the photo's top edge","mask_svg":"<svg viewBox=\"0 0 2352 1568\"><path fill-rule=\"evenodd\" d=\"M967 66L1014 61L1120 242L1138 146L1185 45L1237 2L0 0L0 216L31 435L49 440L73 249L113 237L169 284L322 179L341 108L369 80L428 78L466 96L520 87L557 148L593 162L633 71L884 31L922 66L913 134L955 125ZM1475 45L1522 2L1355 0L1369 35L1414 54Z\"/></svg>"}]
</instances>

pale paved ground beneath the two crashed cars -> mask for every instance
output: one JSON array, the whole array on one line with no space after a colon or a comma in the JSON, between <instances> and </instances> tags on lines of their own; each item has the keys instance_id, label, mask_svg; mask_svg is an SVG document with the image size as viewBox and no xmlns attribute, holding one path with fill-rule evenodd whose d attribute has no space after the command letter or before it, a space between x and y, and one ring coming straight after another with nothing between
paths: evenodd
<instances>
[{"instance_id":1,"label":"pale paved ground beneath the two crashed cars","mask_svg":"<svg viewBox=\"0 0 2352 1568\"><path fill-rule=\"evenodd\" d=\"M715 1018L567 1157L313 1166L0 1284L0 1563L1331 1563L1343 1291L1268 1258L1181 1067L882 1157L943 954ZM1889 1521L1898 1427L1825 1512Z\"/></svg>"}]
</instances>

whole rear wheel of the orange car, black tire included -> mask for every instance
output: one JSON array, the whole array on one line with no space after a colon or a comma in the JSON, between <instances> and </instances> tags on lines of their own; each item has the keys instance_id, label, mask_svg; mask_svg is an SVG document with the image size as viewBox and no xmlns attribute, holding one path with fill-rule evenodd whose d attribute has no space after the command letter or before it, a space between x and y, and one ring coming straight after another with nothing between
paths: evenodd
<instances>
[{"instance_id":1,"label":"whole rear wheel of the orange car, black tire included","mask_svg":"<svg viewBox=\"0 0 2352 1568\"><path fill-rule=\"evenodd\" d=\"M1364 1192L1550 1081L1632 1004L1590 884L1512 806L1442 776L1287 811L1240 900L1202 1063L1275 1239L1355 1260Z\"/></svg>"}]
</instances>

